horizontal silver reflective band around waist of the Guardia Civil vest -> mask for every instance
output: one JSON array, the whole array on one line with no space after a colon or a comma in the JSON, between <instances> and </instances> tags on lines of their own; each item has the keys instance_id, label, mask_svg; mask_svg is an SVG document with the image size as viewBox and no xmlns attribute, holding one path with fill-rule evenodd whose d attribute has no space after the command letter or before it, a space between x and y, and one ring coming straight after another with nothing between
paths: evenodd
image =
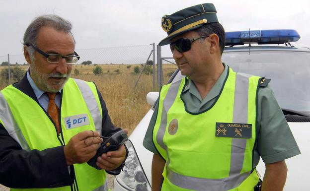
<instances>
[{"instance_id":1,"label":"horizontal silver reflective band around waist of the Guardia Civil vest","mask_svg":"<svg viewBox=\"0 0 310 191\"><path fill-rule=\"evenodd\" d=\"M228 191L240 185L251 172L224 179L201 179L174 173L167 168L167 178L175 186L195 191Z\"/></svg>"}]
</instances>

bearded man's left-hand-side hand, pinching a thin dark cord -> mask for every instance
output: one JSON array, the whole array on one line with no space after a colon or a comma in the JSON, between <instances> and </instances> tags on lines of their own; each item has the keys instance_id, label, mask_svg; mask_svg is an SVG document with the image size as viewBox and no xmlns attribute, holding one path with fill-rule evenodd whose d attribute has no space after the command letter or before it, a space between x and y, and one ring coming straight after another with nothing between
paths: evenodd
<instances>
[{"instance_id":1,"label":"bearded man's left-hand-side hand, pinching a thin dark cord","mask_svg":"<svg viewBox=\"0 0 310 191\"><path fill-rule=\"evenodd\" d=\"M71 137L64 147L67 165L84 163L95 156L103 139L95 131L85 130Z\"/></svg>"}]
</instances>

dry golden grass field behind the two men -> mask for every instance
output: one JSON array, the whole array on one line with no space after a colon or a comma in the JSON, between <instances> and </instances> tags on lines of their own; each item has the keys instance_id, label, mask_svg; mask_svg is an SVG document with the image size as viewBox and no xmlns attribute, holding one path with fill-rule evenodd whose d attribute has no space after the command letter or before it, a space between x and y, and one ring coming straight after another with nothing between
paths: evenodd
<instances>
[{"instance_id":1,"label":"dry golden grass field behind the two men","mask_svg":"<svg viewBox=\"0 0 310 191\"><path fill-rule=\"evenodd\" d=\"M141 70L141 64L131 64L131 66L128 64L100 64L99 66L103 71L101 75L93 74L95 65L75 65L72 77L95 82L106 102L114 125L129 128L131 132L151 108L146 102L147 93L159 89L157 85L153 88L153 75L143 73L135 88L139 75L134 74L134 67L139 66ZM28 68L28 66L20 67L24 70ZM1 66L0 70L3 68L5 67ZM166 82L169 78L167 73L173 72L176 66L164 64L163 68L164 82ZM75 74L75 69L78 69L78 75ZM6 85L5 81L1 79L0 89Z\"/></svg>"}]
</instances>

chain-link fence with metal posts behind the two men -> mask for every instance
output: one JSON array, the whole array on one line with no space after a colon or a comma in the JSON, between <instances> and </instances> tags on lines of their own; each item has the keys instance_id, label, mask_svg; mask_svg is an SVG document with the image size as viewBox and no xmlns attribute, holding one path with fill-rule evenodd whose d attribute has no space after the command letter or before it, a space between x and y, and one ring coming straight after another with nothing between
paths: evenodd
<instances>
[{"instance_id":1,"label":"chain-link fence with metal posts behind the two men","mask_svg":"<svg viewBox=\"0 0 310 191\"><path fill-rule=\"evenodd\" d=\"M166 84L172 73L177 69L174 59L162 58L161 47L157 46L157 49L155 50L154 43L149 45L126 47L78 49L76 50L76 52L80 56L80 60L77 64L105 64L105 67L108 71L111 71L113 68L115 68L113 67L114 64L130 64L134 67L139 66L139 70L137 71L140 75L142 73L153 74L152 80L154 89L159 89L162 84ZM157 57L156 60L155 55ZM8 68L8 62L10 63L11 69L14 66L21 66L27 64L23 54L3 55L0 56L0 70L2 70L3 68ZM24 68L27 68L27 66L25 66ZM9 80L6 80L6 82L4 82L4 80L1 80L2 84L0 84L0 87L6 86L9 83L13 83L14 80L11 80L10 77L11 76L8 76ZM136 86L137 84L139 85L139 79L140 76L136 81Z\"/></svg>"}]
</instances>

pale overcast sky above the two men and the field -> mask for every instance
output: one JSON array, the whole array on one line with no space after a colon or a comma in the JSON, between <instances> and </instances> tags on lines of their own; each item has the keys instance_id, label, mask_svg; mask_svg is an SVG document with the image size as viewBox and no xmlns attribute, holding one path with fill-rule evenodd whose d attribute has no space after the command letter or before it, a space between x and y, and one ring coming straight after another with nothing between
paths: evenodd
<instances>
[{"instance_id":1,"label":"pale overcast sky above the two men and the field","mask_svg":"<svg viewBox=\"0 0 310 191\"><path fill-rule=\"evenodd\" d=\"M0 0L0 57L22 54L23 34L34 17L57 14L73 24L76 50L131 47L152 49L166 33L161 17L202 0ZM226 31L295 29L295 46L310 47L310 0L213 0ZM139 46L138 46L139 45ZM147 48L143 48L145 47ZM148 46L147 46L148 45ZM142 48L135 48L136 46ZM162 56L171 57L168 46ZM116 49L122 55L123 49ZM147 56L144 56L147 57ZM147 59L147 58L145 58Z\"/></svg>"}]
</instances>

